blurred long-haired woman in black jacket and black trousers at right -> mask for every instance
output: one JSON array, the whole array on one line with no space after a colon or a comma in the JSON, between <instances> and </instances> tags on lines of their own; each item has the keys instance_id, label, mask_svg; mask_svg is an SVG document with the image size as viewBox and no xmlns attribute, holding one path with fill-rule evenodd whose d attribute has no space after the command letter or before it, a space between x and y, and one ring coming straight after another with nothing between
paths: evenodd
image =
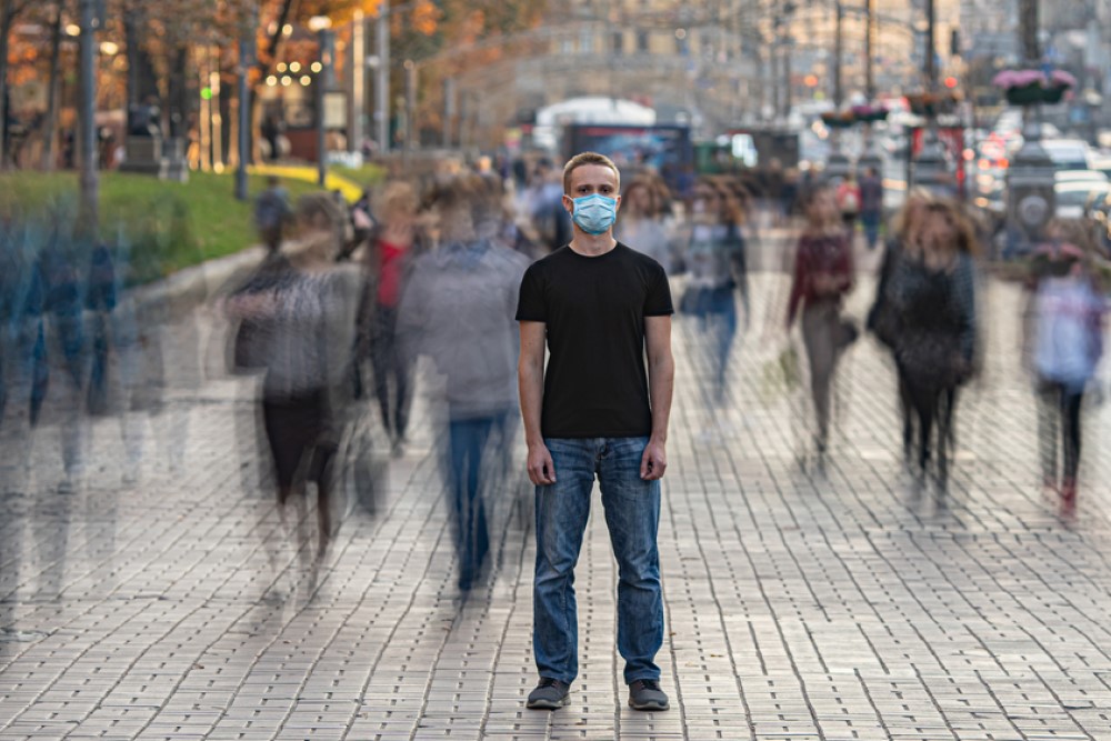
<instances>
[{"instance_id":1,"label":"blurred long-haired woman in black jacket and black trousers at right","mask_svg":"<svg viewBox=\"0 0 1111 741\"><path fill-rule=\"evenodd\" d=\"M885 288L894 312L894 358L918 422L918 473L932 457L937 427L938 480L948 484L958 388L973 371L977 350L975 237L960 207L932 202L917 239L902 244Z\"/></svg>"}]
</instances>

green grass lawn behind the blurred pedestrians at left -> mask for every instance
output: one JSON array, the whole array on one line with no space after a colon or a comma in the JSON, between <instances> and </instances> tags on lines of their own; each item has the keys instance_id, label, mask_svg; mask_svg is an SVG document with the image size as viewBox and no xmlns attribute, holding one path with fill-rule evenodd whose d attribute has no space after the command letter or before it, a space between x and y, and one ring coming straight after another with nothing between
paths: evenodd
<instances>
[{"instance_id":1,"label":"green grass lawn behind the blurred pedestrians at left","mask_svg":"<svg viewBox=\"0 0 1111 741\"><path fill-rule=\"evenodd\" d=\"M258 243L252 201L266 189L266 177L250 176L248 201L236 200L233 173L190 172L187 183L141 174L101 173L101 238L114 243L122 230L133 253L141 248L142 267L137 266L134 276L139 281L243 250ZM314 180L293 177L283 179L283 184L294 206L300 196L319 190ZM76 212L77 199L74 172L0 174L2 212L44 221L69 219Z\"/></svg>"}]
</instances>

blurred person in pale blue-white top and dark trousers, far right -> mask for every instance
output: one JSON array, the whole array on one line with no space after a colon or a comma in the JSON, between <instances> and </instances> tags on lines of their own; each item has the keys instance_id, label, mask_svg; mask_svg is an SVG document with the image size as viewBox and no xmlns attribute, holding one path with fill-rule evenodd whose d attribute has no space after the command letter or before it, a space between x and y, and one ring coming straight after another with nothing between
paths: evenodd
<instances>
[{"instance_id":1,"label":"blurred person in pale blue-white top and dark trousers, far right","mask_svg":"<svg viewBox=\"0 0 1111 741\"><path fill-rule=\"evenodd\" d=\"M1081 410L1084 392L1103 354L1104 289L1092 270L1095 246L1082 220L1051 222L1050 242L1031 263L1031 349L1038 392L1038 433L1043 482L1071 509L1080 468ZM1063 467L1058 472L1058 453Z\"/></svg>"}]
</instances>

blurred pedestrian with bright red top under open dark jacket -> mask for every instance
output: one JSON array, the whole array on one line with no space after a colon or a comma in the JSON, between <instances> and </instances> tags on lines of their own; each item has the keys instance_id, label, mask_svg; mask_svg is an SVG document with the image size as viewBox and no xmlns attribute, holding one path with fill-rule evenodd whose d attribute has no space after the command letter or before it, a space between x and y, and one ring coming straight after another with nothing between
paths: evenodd
<instances>
[{"instance_id":1,"label":"blurred pedestrian with bright red top under open dark jacket","mask_svg":"<svg viewBox=\"0 0 1111 741\"><path fill-rule=\"evenodd\" d=\"M412 368L401 352L397 332L398 303L411 260L426 249L417 207L411 184L400 180L389 183L382 193L381 219L371 230L362 261L367 281L359 308L357 357L370 358L374 395L394 453L404 445L412 395Z\"/></svg>"}]
</instances>

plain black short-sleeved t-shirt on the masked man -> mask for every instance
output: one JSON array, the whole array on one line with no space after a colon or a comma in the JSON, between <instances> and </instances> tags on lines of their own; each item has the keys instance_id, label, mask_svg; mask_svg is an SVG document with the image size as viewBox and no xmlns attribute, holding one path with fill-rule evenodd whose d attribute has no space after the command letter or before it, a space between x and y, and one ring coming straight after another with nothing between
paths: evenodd
<instances>
[{"instance_id":1,"label":"plain black short-sleeved t-shirt on the masked man","mask_svg":"<svg viewBox=\"0 0 1111 741\"><path fill-rule=\"evenodd\" d=\"M620 242L588 258L563 247L524 273L518 321L546 324L546 438L634 438L652 431L644 317L673 313L655 260Z\"/></svg>"}]
</instances>

